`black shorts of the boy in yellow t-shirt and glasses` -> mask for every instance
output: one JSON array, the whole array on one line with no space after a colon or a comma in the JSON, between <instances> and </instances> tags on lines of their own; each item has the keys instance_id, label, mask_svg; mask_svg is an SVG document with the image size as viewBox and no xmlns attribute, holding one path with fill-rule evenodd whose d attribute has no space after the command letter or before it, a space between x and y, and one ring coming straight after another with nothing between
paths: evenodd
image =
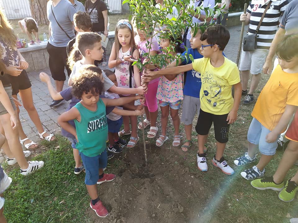
<instances>
[{"instance_id":1,"label":"black shorts of the boy in yellow t-shirt and glasses","mask_svg":"<svg viewBox=\"0 0 298 223\"><path fill-rule=\"evenodd\" d=\"M227 117L228 114L214 115L200 109L200 114L196 123L196 132L199 135L207 135L213 122L216 141L226 143L228 142L228 133L230 128Z\"/></svg>"}]
</instances>

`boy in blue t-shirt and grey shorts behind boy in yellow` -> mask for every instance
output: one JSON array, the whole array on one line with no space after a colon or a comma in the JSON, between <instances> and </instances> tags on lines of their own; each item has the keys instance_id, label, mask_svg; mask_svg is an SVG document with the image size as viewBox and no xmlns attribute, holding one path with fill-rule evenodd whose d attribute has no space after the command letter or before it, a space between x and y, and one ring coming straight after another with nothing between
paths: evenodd
<instances>
[{"instance_id":1,"label":"boy in blue t-shirt and grey shorts behind boy in yellow","mask_svg":"<svg viewBox=\"0 0 298 223\"><path fill-rule=\"evenodd\" d=\"M198 27L202 26L208 26L208 22L201 22L198 24ZM191 39L190 39L190 45L191 48L187 49L187 51L184 51L182 53L182 56L184 57L184 60L179 60L178 66L180 65L186 65L189 63L192 63L188 55L192 55L193 59L199 59L202 58L203 55L201 54L201 35L202 31L199 28L196 35L193 36L193 33L191 33ZM167 68L175 67L176 61L169 64ZM161 77L164 75L156 75L156 76L146 76L143 77L146 82L151 81L152 79ZM184 89L183 89L183 107L182 107L182 116L181 116L181 122L184 123L185 128L185 135L186 140L184 141L184 144L181 146L181 149L186 152L190 149L192 146L192 121L196 115L196 112L200 112L200 90L201 90L201 74L198 73L195 70L190 70L186 72L186 79L184 83ZM204 150L206 151L207 144L205 144Z\"/></svg>"}]
</instances>

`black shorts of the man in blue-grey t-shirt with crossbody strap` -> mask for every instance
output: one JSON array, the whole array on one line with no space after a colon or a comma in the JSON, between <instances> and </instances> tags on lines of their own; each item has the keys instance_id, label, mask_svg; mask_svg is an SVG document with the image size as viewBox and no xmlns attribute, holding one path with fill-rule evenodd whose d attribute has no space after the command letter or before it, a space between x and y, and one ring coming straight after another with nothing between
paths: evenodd
<instances>
[{"instance_id":1,"label":"black shorts of the man in blue-grey t-shirt with crossbody strap","mask_svg":"<svg viewBox=\"0 0 298 223\"><path fill-rule=\"evenodd\" d=\"M56 47L47 43L47 52L49 53L49 67L52 77L55 81L65 81L64 68L67 70L68 77L71 70L67 65L67 51L65 47Z\"/></svg>"}]
</instances>

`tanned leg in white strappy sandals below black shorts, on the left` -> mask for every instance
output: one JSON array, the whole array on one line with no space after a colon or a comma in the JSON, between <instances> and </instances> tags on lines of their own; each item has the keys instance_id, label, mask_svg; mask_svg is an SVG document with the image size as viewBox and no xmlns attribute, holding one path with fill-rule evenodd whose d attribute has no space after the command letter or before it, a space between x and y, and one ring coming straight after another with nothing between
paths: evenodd
<instances>
[{"instance_id":1,"label":"tanned leg in white strappy sandals below black shorts, on the left","mask_svg":"<svg viewBox=\"0 0 298 223\"><path fill-rule=\"evenodd\" d=\"M37 113L36 108L33 103L31 87L29 87L25 90L20 90L19 94L22 99L23 106L26 109L26 111L28 112L30 119L33 121L34 125L36 126L38 133L43 133L44 132L43 125L41 124L38 113ZM16 96L16 95L14 95L14 96ZM21 125L19 125L19 126L20 126L21 131L24 132L22 129L22 126ZM50 135L49 133L44 133L43 138L45 138L49 135ZM51 138L51 141L53 141L53 140L55 140L55 136L53 136Z\"/></svg>"}]
</instances>

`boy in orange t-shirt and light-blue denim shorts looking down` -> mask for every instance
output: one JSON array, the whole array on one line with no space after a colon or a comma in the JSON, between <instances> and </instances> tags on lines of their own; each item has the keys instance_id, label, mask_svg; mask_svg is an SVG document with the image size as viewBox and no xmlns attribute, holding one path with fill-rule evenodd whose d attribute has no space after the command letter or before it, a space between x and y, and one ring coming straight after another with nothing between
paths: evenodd
<instances>
[{"instance_id":1,"label":"boy in orange t-shirt and light-blue denim shorts looking down","mask_svg":"<svg viewBox=\"0 0 298 223\"><path fill-rule=\"evenodd\" d=\"M247 180L264 176L278 146L280 133L284 132L298 108L298 35L287 35L278 44L279 65L274 69L251 113L253 120L248 129L248 152L234 160L242 166L256 160L259 147L261 158L257 165L241 172Z\"/></svg>"}]
</instances>

